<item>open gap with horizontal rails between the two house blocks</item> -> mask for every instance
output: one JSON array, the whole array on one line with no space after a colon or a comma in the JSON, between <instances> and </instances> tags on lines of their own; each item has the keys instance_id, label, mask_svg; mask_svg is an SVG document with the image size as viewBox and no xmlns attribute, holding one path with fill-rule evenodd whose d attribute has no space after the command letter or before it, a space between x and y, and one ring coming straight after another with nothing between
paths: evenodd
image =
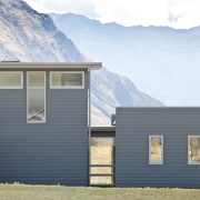
<instances>
[{"instance_id":1,"label":"open gap with horizontal rails between the two house blocks","mask_svg":"<svg viewBox=\"0 0 200 200\"><path fill-rule=\"evenodd\" d=\"M114 137L93 133L90 138L90 186L114 186Z\"/></svg>"}]
</instances>

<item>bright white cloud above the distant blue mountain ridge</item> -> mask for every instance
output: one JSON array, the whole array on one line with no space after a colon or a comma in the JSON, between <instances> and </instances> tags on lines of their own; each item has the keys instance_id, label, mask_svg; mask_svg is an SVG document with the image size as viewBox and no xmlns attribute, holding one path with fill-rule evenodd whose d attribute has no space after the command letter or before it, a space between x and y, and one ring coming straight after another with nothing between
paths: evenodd
<instances>
[{"instance_id":1,"label":"bright white cloud above the distant blue mountain ridge","mask_svg":"<svg viewBox=\"0 0 200 200\"><path fill-rule=\"evenodd\" d=\"M199 0L97 0L94 8L103 22L177 29L200 26Z\"/></svg>"}]
</instances>

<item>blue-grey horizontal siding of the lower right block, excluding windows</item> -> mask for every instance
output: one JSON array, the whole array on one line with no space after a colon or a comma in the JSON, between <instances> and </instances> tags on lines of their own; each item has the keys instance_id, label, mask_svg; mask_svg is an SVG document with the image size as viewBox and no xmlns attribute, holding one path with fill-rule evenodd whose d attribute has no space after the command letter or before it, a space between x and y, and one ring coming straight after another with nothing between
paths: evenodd
<instances>
[{"instance_id":1,"label":"blue-grey horizontal siding of the lower right block, excluding windows","mask_svg":"<svg viewBox=\"0 0 200 200\"><path fill-rule=\"evenodd\" d=\"M150 134L163 136L163 164L149 164ZM116 186L200 188L189 134L200 136L200 108L117 108Z\"/></svg>"}]
</instances>

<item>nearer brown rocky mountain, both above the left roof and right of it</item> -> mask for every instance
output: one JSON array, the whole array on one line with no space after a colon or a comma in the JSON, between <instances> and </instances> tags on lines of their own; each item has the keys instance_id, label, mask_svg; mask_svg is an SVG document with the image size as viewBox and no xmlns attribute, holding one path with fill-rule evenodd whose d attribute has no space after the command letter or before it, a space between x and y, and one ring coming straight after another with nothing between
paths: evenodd
<instances>
[{"instance_id":1,"label":"nearer brown rocky mountain, both above the left roof and right of it","mask_svg":"<svg viewBox=\"0 0 200 200\"><path fill-rule=\"evenodd\" d=\"M21 0L0 0L1 60L21 62L84 62L89 59L71 38L61 32L48 14L39 13ZM163 106L141 92L124 76L106 68L92 72L92 124L110 124L116 106Z\"/></svg>"}]
</instances>

